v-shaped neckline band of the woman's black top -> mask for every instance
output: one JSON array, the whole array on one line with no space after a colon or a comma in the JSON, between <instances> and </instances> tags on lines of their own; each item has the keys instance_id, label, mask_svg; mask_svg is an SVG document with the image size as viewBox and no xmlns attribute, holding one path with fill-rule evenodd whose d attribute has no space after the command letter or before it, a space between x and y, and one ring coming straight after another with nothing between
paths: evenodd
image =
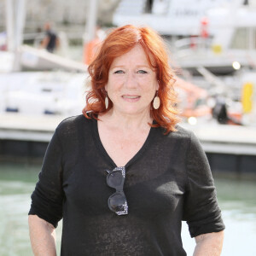
<instances>
[{"instance_id":1,"label":"v-shaped neckline band of the woman's black top","mask_svg":"<svg viewBox=\"0 0 256 256\"><path fill-rule=\"evenodd\" d=\"M131 158L131 160L129 160L125 164L125 169L127 169L128 166L131 166L132 163L134 163L137 159L139 159L140 156L143 154L143 152L148 148L148 145L152 142L152 139L154 137L153 135L154 135L155 130L156 130L156 128L150 127L150 130L148 132L148 137L146 138L145 142L143 143L143 146L137 151L136 154L134 154L134 156ZM102 154L102 157L108 163L110 163L111 166L113 166L113 168L121 167L121 166L116 165L116 163L113 161L113 159L109 156L107 150L104 148L101 138L100 138L99 130L98 130L98 121L96 119L92 119L92 134L93 134L94 141L96 143L96 147Z\"/></svg>"}]
</instances>

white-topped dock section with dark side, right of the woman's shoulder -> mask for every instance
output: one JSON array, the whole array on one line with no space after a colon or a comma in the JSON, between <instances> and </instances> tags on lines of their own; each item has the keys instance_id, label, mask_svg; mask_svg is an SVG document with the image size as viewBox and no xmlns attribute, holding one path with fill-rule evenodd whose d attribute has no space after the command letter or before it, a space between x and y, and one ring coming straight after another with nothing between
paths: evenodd
<instances>
[{"instance_id":1,"label":"white-topped dock section with dark side, right of the woman's shoulder","mask_svg":"<svg viewBox=\"0 0 256 256\"><path fill-rule=\"evenodd\" d=\"M182 125L200 139L212 172L256 177L256 127L217 123Z\"/></svg>"}]
</instances>

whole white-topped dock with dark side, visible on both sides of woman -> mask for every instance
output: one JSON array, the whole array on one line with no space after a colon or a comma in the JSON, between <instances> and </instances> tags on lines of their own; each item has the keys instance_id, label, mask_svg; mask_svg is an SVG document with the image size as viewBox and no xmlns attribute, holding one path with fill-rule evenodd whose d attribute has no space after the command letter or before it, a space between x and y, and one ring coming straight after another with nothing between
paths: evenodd
<instances>
[{"instance_id":1,"label":"whole white-topped dock with dark side, visible on both sides of woman","mask_svg":"<svg viewBox=\"0 0 256 256\"><path fill-rule=\"evenodd\" d=\"M38 158L65 116L0 114L0 160ZM181 124L200 139L212 172L256 177L256 127L203 123Z\"/></svg>"}]
</instances>

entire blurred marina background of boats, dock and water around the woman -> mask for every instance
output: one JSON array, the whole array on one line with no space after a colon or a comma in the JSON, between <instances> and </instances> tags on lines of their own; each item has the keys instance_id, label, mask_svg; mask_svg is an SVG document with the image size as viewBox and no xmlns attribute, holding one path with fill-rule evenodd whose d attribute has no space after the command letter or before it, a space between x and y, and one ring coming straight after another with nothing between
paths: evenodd
<instances>
[{"instance_id":1,"label":"entire blurred marina background of boats, dock and water around the woman","mask_svg":"<svg viewBox=\"0 0 256 256\"><path fill-rule=\"evenodd\" d=\"M0 9L8 34L4 38L0 31L0 255L32 255L30 195L55 128L84 108L90 88L84 52L96 37L96 21L102 38L109 26L126 23L152 26L165 38L177 72L180 125L200 139L217 187L226 225L222 255L256 255L256 1L5 3L4 15ZM59 28L61 49L55 53L40 49L44 32L37 29L47 15ZM56 232L59 254L61 223ZM192 255L195 240L184 222L182 237Z\"/></svg>"}]
</instances>

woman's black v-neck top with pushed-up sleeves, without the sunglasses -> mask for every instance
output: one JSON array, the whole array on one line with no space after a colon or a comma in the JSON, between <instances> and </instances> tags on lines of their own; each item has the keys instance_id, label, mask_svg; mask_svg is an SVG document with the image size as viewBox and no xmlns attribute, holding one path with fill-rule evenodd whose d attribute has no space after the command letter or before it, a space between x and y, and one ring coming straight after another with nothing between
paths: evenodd
<instances>
[{"instance_id":1,"label":"woman's black v-neck top with pushed-up sleeves, without the sunglasses","mask_svg":"<svg viewBox=\"0 0 256 256\"><path fill-rule=\"evenodd\" d=\"M108 208L115 189L105 170L114 167L96 119L79 115L57 127L29 214L55 227L63 218L61 256L183 256L182 220L192 237L224 230L207 157L192 132L150 129L125 165L127 215Z\"/></svg>"}]
</instances>

